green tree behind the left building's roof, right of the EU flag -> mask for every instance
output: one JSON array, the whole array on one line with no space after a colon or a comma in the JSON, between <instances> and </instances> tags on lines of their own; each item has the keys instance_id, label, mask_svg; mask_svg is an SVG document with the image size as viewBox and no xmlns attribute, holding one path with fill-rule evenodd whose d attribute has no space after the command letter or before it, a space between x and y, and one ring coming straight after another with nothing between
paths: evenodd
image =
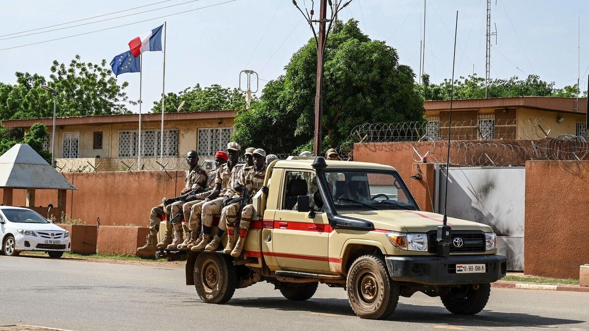
<instances>
[{"instance_id":1,"label":"green tree behind the left building's roof, right of the EU flag","mask_svg":"<svg viewBox=\"0 0 589 331\"><path fill-rule=\"evenodd\" d=\"M177 108L184 101L181 112L240 110L246 108L246 97L237 88L221 87L219 84L201 88L200 84L184 91L166 94L166 112L178 112ZM161 113L161 100L155 101L151 111Z\"/></svg>"}]
</instances>

